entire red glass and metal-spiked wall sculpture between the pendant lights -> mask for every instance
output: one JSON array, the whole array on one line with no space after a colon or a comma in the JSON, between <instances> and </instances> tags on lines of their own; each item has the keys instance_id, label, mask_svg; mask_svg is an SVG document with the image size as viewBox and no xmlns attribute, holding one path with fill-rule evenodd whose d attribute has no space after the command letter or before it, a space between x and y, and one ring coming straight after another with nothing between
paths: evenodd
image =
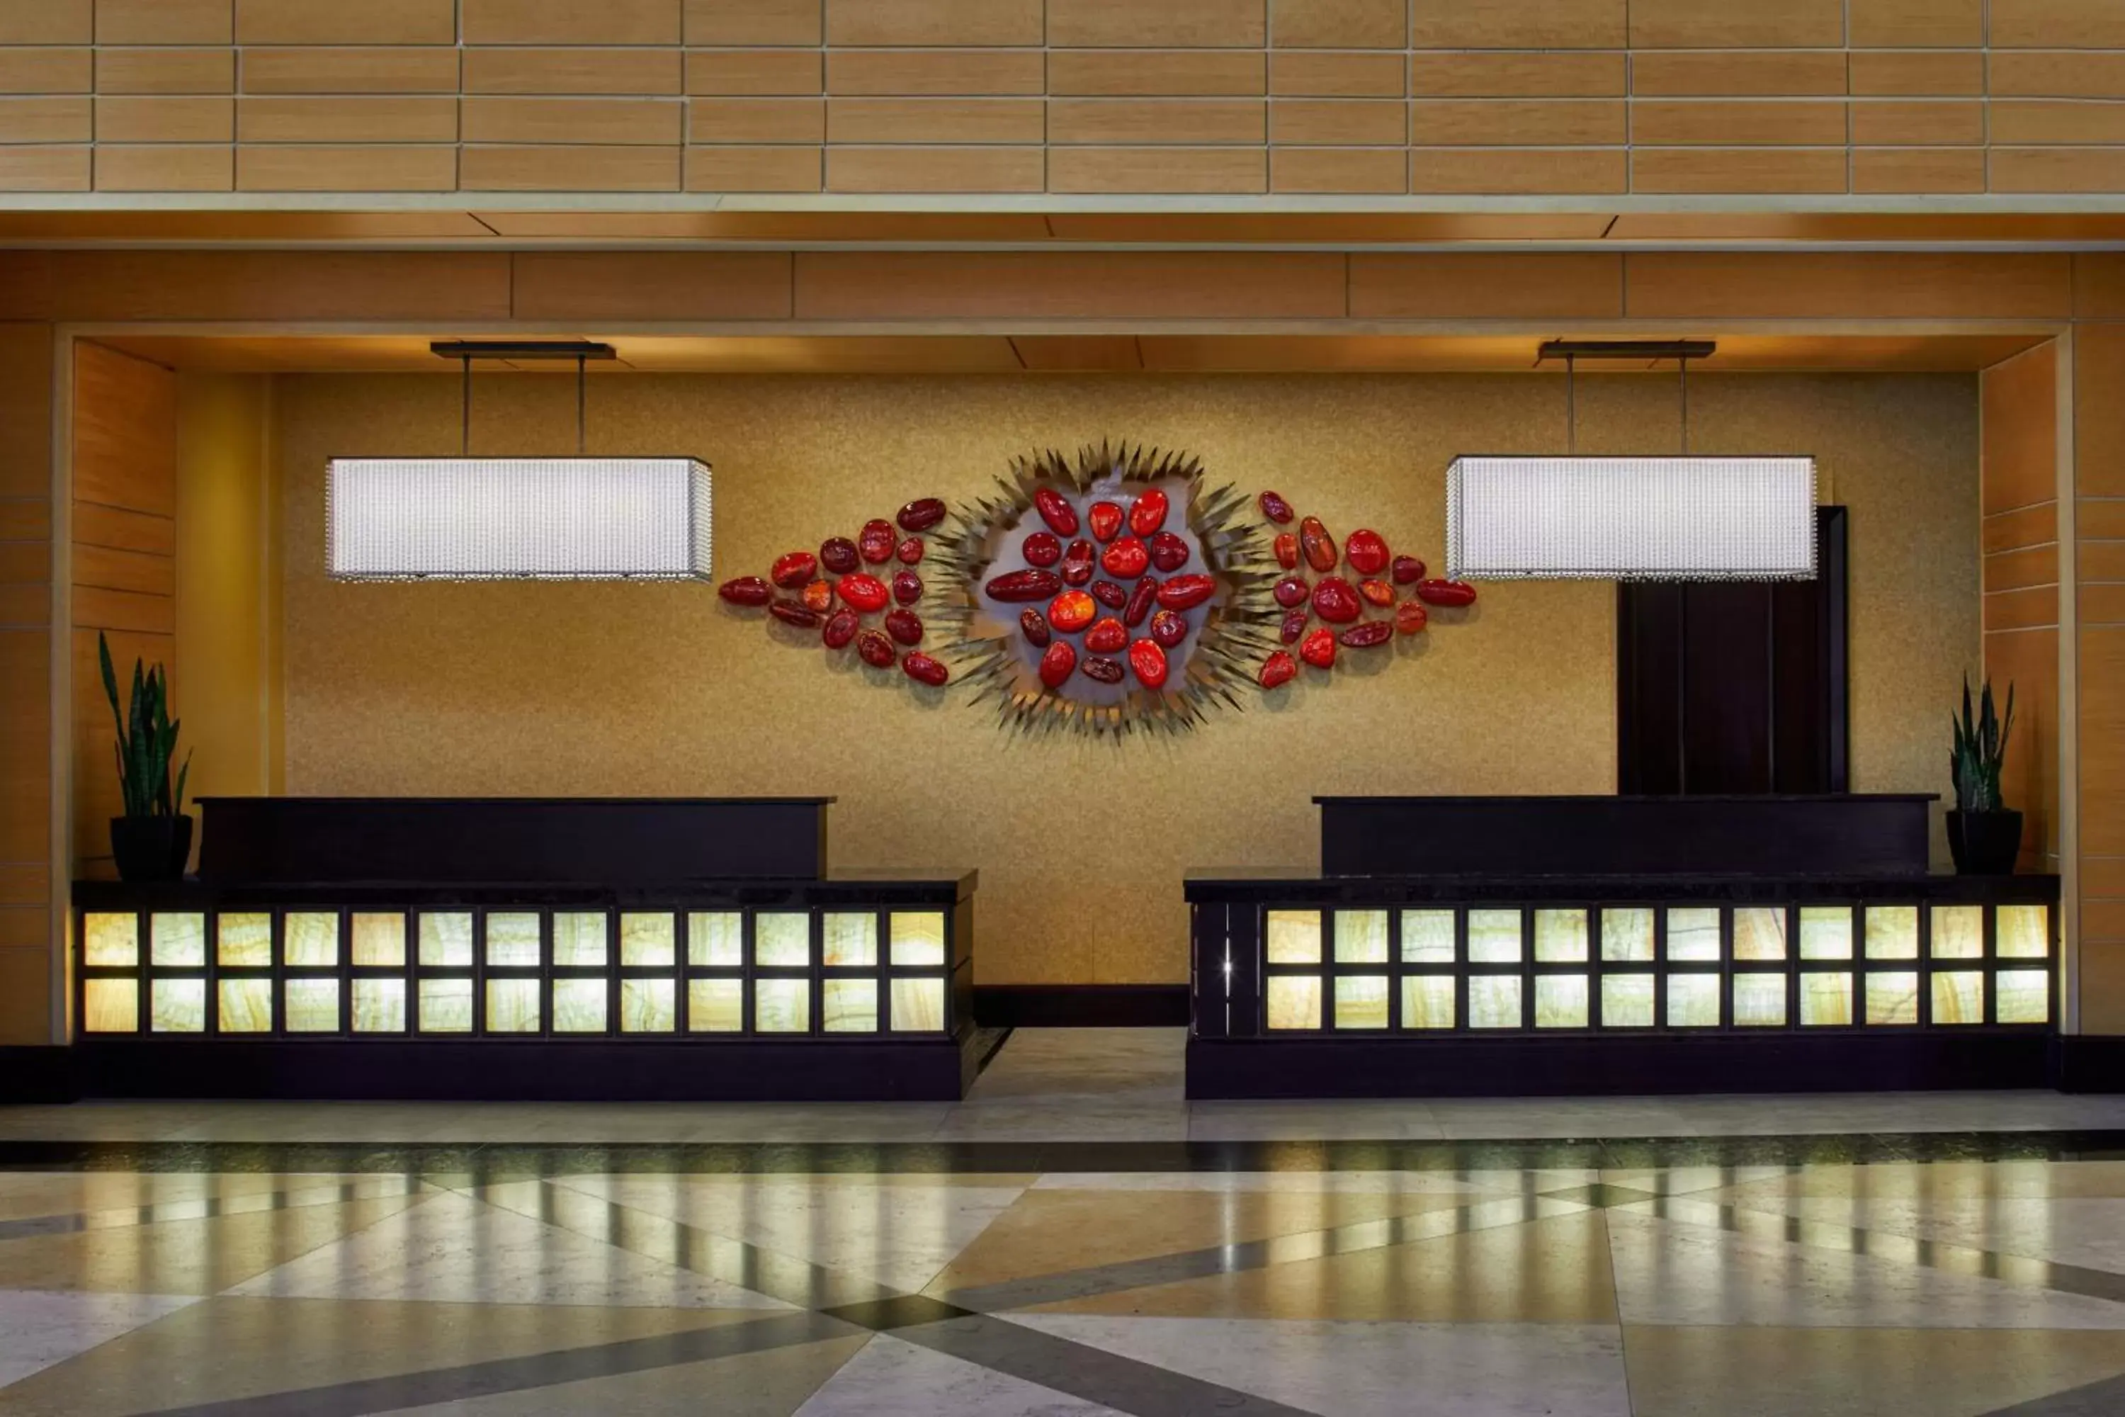
<instances>
[{"instance_id":1,"label":"entire red glass and metal-spiked wall sculpture between the pendant lights","mask_svg":"<svg viewBox=\"0 0 2125 1417\"><path fill-rule=\"evenodd\" d=\"M1475 603L1371 527L1339 542L1273 491L1252 510L1266 525L1184 453L1050 450L965 508L910 501L718 593L918 684L956 673L1007 727L1103 735L1192 729L1247 680L1275 693Z\"/></svg>"}]
</instances>

